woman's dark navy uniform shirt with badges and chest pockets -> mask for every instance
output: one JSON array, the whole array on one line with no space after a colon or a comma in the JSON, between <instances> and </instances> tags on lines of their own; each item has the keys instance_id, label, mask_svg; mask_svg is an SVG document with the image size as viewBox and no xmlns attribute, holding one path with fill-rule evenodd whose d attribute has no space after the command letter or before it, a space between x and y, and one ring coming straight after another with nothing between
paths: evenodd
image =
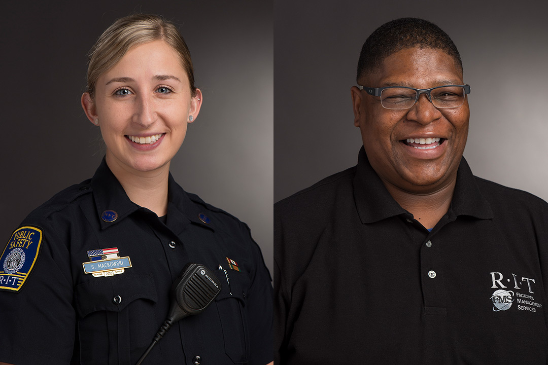
<instances>
[{"instance_id":1,"label":"woman's dark navy uniform shirt with badges and chest pockets","mask_svg":"<svg viewBox=\"0 0 548 365\"><path fill-rule=\"evenodd\" d=\"M189 262L212 269L222 291L202 314L177 322L143 364L272 361L272 285L258 245L245 224L184 192L172 176L165 224L129 200L103 161L92 179L55 195L23 227L18 237L34 241L10 241L41 247L18 291L9 287L18 273L9 281L0 271L0 361L135 364L167 317L170 287ZM31 248L21 247L28 263ZM84 274L88 254L112 255L109 249L132 266ZM4 254L0 270L17 269L17 253Z\"/></svg>"}]
</instances>

